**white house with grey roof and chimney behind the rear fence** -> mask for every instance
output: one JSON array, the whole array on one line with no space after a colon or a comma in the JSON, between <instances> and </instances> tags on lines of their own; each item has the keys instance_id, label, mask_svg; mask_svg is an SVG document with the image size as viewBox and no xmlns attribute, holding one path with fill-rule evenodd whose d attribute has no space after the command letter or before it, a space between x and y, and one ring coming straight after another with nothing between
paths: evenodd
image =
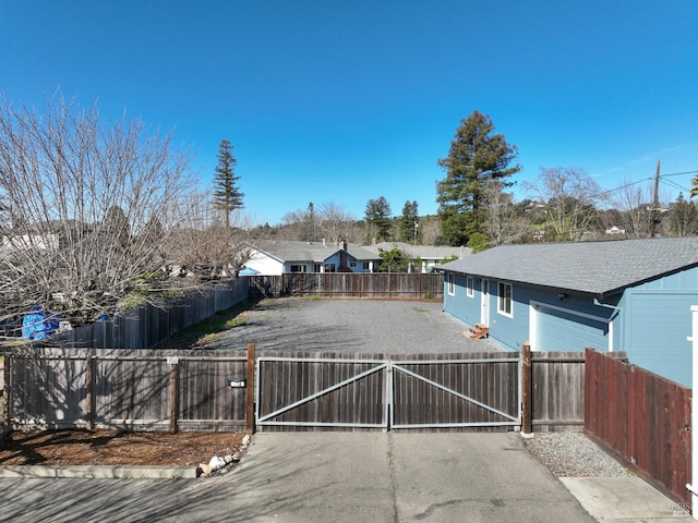
<instances>
[{"instance_id":1,"label":"white house with grey roof and chimney behind the rear fence","mask_svg":"<svg viewBox=\"0 0 698 523\"><path fill-rule=\"evenodd\" d=\"M245 269L262 276L285 272L373 272L381 257L359 245L341 242L269 242L252 247Z\"/></svg>"}]
</instances>

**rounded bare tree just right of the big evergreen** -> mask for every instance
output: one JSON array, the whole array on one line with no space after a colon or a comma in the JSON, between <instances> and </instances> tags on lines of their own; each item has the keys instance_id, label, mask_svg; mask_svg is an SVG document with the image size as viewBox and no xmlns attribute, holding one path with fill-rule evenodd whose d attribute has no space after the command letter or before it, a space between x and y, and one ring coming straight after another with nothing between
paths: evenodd
<instances>
[{"instance_id":1,"label":"rounded bare tree just right of the big evergreen","mask_svg":"<svg viewBox=\"0 0 698 523\"><path fill-rule=\"evenodd\" d=\"M544 204L547 228L557 241L580 240L598 221L597 206L604 200L601 186L578 167L541 167L535 183L524 187Z\"/></svg>"}]
</instances>

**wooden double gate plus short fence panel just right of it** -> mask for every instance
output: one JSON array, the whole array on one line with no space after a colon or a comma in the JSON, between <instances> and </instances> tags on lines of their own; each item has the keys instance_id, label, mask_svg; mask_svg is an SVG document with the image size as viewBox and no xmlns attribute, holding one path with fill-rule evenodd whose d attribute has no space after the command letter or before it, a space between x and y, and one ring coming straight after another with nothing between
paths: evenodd
<instances>
[{"instance_id":1,"label":"wooden double gate plus short fence panel just right of it","mask_svg":"<svg viewBox=\"0 0 698 523\"><path fill-rule=\"evenodd\" d=\"M262 358L268 358L260 365L257 391L258 415L263 425L267 425L265 430L338 427L488 430L513 429L520 424L521 356L516 352L261 354ZM528 382L529 415L535 430L582 430L583 356L568 352L533 353ZM389 391L388 363L393 380ZM360 379L353 379L354 376ZM335 389L337 384L342 385ZM390 402L389 409L386 402Z\"/></svg>"}]
</instances>

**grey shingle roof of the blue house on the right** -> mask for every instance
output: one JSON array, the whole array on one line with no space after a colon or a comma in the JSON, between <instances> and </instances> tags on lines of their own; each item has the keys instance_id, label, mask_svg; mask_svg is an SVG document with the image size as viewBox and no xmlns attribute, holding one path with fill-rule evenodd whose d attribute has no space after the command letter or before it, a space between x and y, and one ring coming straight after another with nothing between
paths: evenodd
<instances>
[{"instance_id":1,"label":"grey shingle roof of the blue house on the right","mask_svg":"<svg viewBox=\"0 0 698 523\"><path fill-rule=\"evenodd\" d=\"M698 238L502 245L442 268L600 296L698 266Z\"/></svg>"}]
</instances>

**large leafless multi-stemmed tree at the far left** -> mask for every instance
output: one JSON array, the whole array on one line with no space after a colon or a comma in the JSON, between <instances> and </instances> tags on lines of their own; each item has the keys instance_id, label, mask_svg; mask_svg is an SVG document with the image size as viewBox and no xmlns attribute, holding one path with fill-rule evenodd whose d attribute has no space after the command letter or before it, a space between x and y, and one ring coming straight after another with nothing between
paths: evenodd
<instances>
[{"instance_id":1,"label":"large leafless multi-stemmed tree at the far left","mask_svg":"<svg viewBox=\"0 0 698 523\"><path fill-rule=\"evenodd\" d=\"M43 110L0 97L2 316L33 306L79 325L161 276L195 179L171 135L60 96ZM171 253L170 253L171 254Z\"/></svg>"}]
</instances>

